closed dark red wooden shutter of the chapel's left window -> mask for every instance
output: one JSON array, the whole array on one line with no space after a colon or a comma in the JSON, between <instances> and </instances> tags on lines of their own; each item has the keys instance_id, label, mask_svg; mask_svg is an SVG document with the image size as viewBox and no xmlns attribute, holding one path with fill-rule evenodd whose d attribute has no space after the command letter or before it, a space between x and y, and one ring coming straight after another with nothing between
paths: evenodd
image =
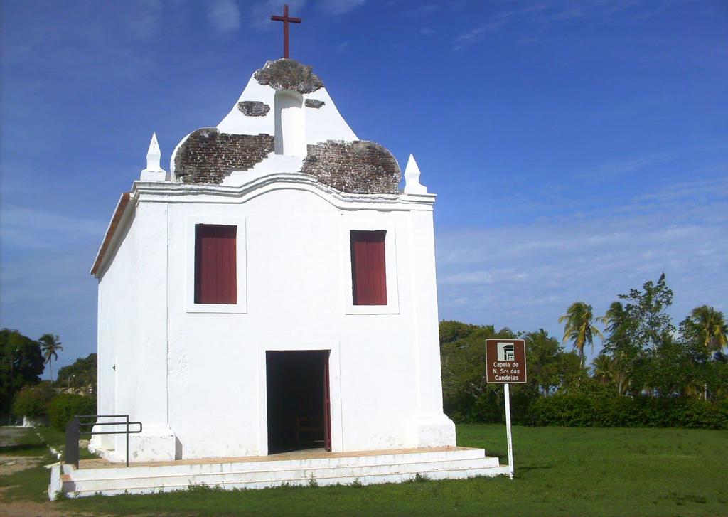
<instances>
[{"instance_id":1,"label":"closed dark red wooden shutter of the chapel's left window","mask_svg":"<svg viewBox=\"0 0 728 517\"><path fill-rule=\"evenodd\" d=\"M237 226L194 226L194 303L236 304Z\"/></svg>"}]
</instances>

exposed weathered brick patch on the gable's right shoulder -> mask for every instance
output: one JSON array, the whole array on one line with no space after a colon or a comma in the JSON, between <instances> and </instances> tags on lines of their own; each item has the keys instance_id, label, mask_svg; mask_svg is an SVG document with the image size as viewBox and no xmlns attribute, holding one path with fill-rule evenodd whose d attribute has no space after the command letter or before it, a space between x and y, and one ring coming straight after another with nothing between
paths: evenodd
<instances>
[{"instance_id":1,"label":"exposed weathered brick patch on the gable's right shoulder","mask_svg":"<svg viewBox=\"0 0 728 517\"><path fill-rule=\"evenodd\" d=\"M401 172L392 153L370 141L325 141L308 146L301 173L354 194L396 194Z\"/></svg>"}]
</instances>

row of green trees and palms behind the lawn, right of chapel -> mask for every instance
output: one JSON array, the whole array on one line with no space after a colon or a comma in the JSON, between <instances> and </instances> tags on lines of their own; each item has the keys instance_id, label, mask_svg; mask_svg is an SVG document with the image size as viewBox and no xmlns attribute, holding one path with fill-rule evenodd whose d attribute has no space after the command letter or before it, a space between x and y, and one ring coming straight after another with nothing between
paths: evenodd
<instances>
[{"instance_id":1,"label":"row of green trees and palms behind the lawn, right of chapel","mask_svg":"<svg viewBox=\"0 0 728 517\"><path fill-rule=\"evenodd\" d=\"M695 307L676 327L665 275L620 294L605 315L583 301L566 309L561 342L547 331L440 323L446 413L459 422L501 422L502 387L486 384L485 340L526 340L529 382L513 386L516 422L531 425L728 425L728 327ZM590 366L585 348L602 349ZM570 344L571 350L566 350ZM604 415L611 415L605 417ZM702 423L701 423L702 422Z\"/></svg>"}]
</instances>

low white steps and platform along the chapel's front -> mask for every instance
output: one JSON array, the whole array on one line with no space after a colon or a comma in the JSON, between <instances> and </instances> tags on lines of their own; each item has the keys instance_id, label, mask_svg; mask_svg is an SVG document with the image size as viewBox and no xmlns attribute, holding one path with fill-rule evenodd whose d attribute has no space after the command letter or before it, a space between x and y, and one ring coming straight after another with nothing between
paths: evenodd
<instances>
[{"instance_id":1,"label":"low white steps and platform along the chapel's front","mask_svg":"<svg viewBox=\"0 0 728 517\"><path fill-rule=\"evenodd\" d=\"M285 455L281 455L285 457ZM49 496L94 494L149 494L185 490L190 486L221 489L264 489L272 486L316 484L378 484L411 481L416 475L430 479L460 479L507 475L507 465L486 457L483 449L448 447L403 451L331 454L295 459L210 459L207 462L116 467L52 467ZM62 470L62 471L61 471Z\"/></svg>"}]
</instances>

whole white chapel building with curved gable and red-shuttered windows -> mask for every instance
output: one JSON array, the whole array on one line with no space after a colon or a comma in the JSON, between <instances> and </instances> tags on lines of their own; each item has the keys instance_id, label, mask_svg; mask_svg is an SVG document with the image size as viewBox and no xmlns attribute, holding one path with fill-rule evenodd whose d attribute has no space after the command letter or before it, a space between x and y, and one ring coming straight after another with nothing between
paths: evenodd
<instances>
[{"instance_id":1,"label":"whole white chapel building with curved gable and red-shuttered windows","mask_svg":"<svg viewBox=\"0 0 728 517\"><path fill-rule=\"evenodd\" d=\"M98 279L98 413L132 462L455 445L432 208L310 66L269 61L122 194ZM92 449L123 460L124 435Z\"/></svg>"}]
</instances>

